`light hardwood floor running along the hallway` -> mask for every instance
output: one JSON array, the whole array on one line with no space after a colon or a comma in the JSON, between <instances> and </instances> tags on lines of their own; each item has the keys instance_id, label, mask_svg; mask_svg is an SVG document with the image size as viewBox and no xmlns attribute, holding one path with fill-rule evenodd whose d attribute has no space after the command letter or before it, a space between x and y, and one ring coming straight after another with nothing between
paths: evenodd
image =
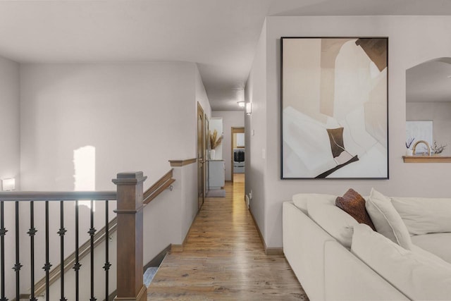
<instances>
[{"instance_id":1,"label":"light hardwood floor running along the hallway","mask_svg":"<svg viewBox=\"0 0 451 301\"><path fill-rule=\"evenodd\" d=\"M267 256L244 201L244 183L206 198L183 252L168 254L148 300L308 300L283 256Z\"/></svg>"}]
</instances>

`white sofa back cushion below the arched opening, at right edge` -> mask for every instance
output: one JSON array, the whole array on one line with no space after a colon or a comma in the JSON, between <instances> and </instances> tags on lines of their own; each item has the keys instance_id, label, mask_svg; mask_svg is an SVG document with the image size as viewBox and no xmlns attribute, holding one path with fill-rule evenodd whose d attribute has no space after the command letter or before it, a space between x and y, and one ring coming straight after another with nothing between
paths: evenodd
<instances>
[{"instance_id":1,"label":"white sofa back cushion below the arched opening, at right edge","mask_svg":"<svg viewBox=\"0 0 451 301\"><path fill-rule=\"evenodd\" d=\"M451 199L423 197L391 199L410 234L451 232Z\"/></svg>"}]
</instances>

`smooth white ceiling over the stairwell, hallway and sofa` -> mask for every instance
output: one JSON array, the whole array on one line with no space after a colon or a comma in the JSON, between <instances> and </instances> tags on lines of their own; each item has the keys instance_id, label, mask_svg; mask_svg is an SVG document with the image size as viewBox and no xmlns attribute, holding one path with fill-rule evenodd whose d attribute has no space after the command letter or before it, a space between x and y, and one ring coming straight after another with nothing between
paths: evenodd
<instances>
[{"instance_id":1,"label":"smooth white ceiling over the stairwell, hallway and sofa","mask_svg":"<svg viewBox=\"0 0 451 301\"><path fill-rule=\"evenodd\" d=\"M0 1L0 56L191 61L212 109L237 110L265 16L450 14L450 0Z\"/></svg>"}]
</instances>

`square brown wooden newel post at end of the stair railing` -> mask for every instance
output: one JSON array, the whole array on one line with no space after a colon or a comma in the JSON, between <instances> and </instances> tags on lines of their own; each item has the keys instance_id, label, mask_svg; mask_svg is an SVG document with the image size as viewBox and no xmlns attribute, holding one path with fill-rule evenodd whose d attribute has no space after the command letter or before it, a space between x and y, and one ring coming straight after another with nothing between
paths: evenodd
<instances>
[{"instance_id":1,"label":"square brown wooden newel post at end of the stair railing","mask_svg":"<svg viewBox=\"0 0 451 301\"><path fill-rule=\"evenodd\" d=\"M118 191L118 289L114 300L147 300L147 288L142 281L142 183L146 179L142 171L118 173L118 178L113 179Z\"/></svg>"}]
</instances>

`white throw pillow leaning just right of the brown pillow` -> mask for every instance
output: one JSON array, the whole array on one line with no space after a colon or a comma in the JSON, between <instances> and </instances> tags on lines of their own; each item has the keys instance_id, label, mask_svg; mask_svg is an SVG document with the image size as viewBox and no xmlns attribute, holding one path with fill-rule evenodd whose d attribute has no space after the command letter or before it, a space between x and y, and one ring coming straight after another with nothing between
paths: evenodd
<instances>
[{"instance_id":1,"label":"white throw pillow leaning just right of the brown pillow","mask_svg":"<svg viewBox=\"0 0 451 301\"><path fill-rule=\"evenodd\" d=\"M365 207L378 233L410 250L412 240L409 231L388 197L372 188Z\"/></svg>"}]
</instances>

